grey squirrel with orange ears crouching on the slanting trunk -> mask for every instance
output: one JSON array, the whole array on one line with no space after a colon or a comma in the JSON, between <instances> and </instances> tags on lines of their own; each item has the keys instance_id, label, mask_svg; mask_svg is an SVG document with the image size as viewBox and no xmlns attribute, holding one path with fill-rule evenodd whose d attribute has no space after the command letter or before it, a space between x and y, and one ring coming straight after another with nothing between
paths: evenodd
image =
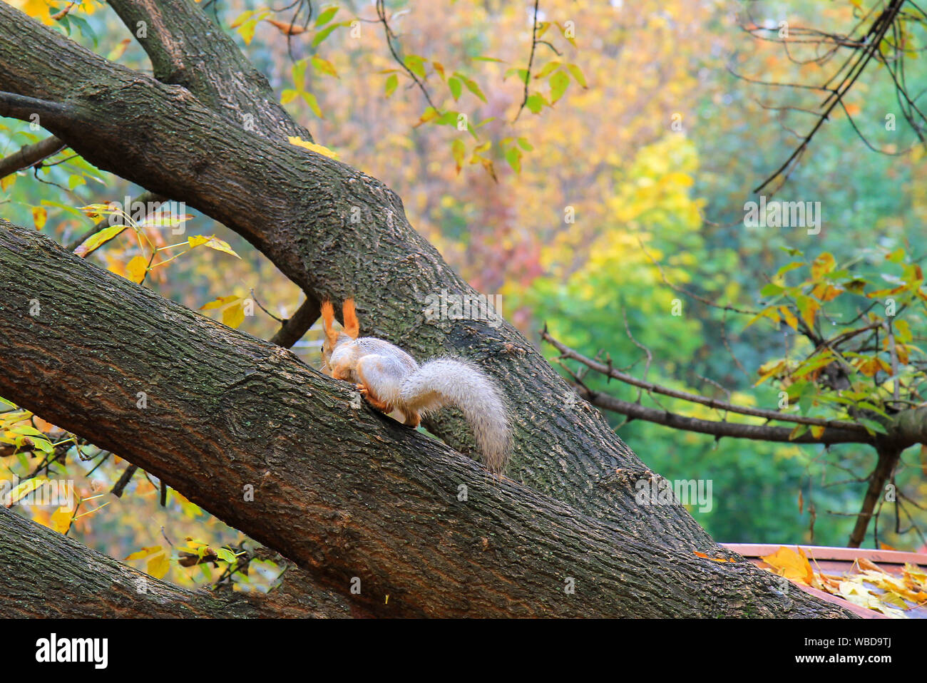
<instances>
[{"instance_id":1,"label":"grey squirrel with orange ears crouching on the slanting trunk","mask_svg":"<svg viewBox=\"0 0 927 683\"><path fill-rule=\"evenodd\" d=\"M422 415L455 405L482 451L483 464L502 474L512 450L512 430L502 393L487 373L466 360L441 357L422 365L383 339L362 336L354 299L344 302L344 326L333 328L335 310L322 303L323 372L352 382L378 411L400 411L405 424L417 427Z\"/></svg>"}]
</instances>

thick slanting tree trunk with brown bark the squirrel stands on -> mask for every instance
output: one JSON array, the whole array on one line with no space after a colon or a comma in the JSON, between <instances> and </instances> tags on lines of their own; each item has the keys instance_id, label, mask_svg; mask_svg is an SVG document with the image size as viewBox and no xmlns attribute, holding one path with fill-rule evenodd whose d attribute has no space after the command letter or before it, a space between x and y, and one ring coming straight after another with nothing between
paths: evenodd
<instances>
[{"instance_id":1,"label":"thick slanting tree trunk with brown bark the squirrel stands on","mask_svg":"<svg viewBox=\"0 0 927 683\"><path fill-rule=\"evenodd\" d=\"M7 221L0 291L0 396L120 453L370 613L846 615L783 594L750 563L661 547L493 477L353 410L350 386L288 351Z\"/></svg>"}]
</instances>

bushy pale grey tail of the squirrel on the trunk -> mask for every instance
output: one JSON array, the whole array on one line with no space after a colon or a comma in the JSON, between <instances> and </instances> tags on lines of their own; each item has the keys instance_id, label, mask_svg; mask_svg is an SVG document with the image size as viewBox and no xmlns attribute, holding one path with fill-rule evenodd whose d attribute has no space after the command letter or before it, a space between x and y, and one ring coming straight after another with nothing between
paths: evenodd
<instances>
[{"instance_id":1,"label":"bushy pale grey tail of the squirrel on the trunk","mask_svg":"<svg viewBox=\"0 0 927 683\"><path fill-rule=\"evenodd\" d=\"M419 412L452 404L464 411L489 472L501 474L512 451L512 430L502 393L487 373L451 358L429 360L400 386L402 402Z\"/></svg>"}]
</instances>

